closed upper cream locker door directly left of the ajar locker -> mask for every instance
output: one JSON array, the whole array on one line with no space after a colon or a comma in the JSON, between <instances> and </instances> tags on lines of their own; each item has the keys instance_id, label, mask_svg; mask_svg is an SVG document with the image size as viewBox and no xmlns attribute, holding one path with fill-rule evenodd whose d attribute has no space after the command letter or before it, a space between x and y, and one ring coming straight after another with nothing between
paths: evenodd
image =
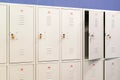
<instances>
[{"instance_id":1,"label":"closed upper cream locker door directly left of the ajar locker","mask_svg":"<svg viewBox=\"0 0 120 80\"><path fill-rule=\"evenodd\" d=\"M82 57L82 10L62 9L62 60Z\"/></svg>"}]
</instances>

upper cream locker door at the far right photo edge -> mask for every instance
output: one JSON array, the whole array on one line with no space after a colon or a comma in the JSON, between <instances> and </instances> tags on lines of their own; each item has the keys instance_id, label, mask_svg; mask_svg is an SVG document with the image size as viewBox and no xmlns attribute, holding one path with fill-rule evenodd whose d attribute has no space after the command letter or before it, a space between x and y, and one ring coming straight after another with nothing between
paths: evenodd
<instances>
[{"instance_id":1,"label":"upper cream locker door at the far right photo edge","mask_svg":"<svg viewBox=\"0 0 120 80\"><path fill-rule=\"evenodd\" d=\"M105 58L120 57L120 12L105 12Z\"/></svg>"}]
</instances>

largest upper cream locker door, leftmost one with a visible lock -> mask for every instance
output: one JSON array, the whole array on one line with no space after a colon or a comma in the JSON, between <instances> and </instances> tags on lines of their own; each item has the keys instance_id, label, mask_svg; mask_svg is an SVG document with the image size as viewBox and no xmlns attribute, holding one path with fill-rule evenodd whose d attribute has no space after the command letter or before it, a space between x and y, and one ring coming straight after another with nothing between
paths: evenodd
<instances>
[{"instance_id":1,"label":"largest upper cream locker door, leftmost one with a visible lock","mask_svg":"<svg viewBox=\"0 0 120 80\"><path fill-rule=\"evenodd\" d=\"M33 7L10 6L10 62L33 61Z\"/></svg>"}]
</instances>

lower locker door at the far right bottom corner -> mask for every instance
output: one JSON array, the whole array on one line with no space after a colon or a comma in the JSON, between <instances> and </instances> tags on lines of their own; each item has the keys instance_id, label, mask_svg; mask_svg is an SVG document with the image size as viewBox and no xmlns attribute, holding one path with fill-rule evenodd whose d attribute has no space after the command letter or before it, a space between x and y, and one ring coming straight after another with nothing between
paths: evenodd
<instances>
[{"instance_id":1,"label":"lower locker door at the far right bottom corner","mask_svg":"<svg viewBox=\"0 0 120 80\"><path fill-rule=\"evenodd\" d=\"M105 61L105 80L119 80L119 65L118 59Z\"/></svg>"}]
</instances>

